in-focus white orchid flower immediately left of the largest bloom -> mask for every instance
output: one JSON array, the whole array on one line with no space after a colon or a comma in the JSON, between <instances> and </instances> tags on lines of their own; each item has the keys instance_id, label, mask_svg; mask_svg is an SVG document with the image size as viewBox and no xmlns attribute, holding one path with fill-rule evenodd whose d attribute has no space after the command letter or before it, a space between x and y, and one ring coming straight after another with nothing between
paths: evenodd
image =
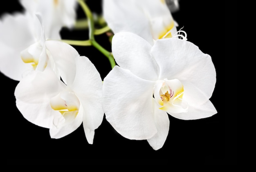
<instances>
[{"instance_id":1,"label":"in-focus white orchid flower immediately left of the largest bloom","mask_svg":"<svg viewBox=\"0 0 256 172\"><path fill-rule=\"evenodd\" d=\"M31 71L15 89L16 106L28 121L49 128L51 138L66 136L83 123L87 141L92 144L94 130L104 114L101 76L90 60L79 56L72 46L54 40L47 40L45 45L56 66L65 73L61 75L65 83L50 65L43 71ZM70 65L63 62L65 59L70 59Z\"/></svg>"}]
</instances>

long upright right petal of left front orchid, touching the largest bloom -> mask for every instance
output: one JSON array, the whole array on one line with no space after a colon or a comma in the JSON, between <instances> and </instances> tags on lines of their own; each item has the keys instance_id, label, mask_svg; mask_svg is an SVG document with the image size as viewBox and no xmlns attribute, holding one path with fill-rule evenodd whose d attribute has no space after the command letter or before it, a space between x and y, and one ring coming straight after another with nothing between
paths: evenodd
<instances>
[{"instance_id":1,"label":"long upright right petal of left front orchid, touching the largest bloom","mask_svg":"<svg viewBox=\"0 0 256 172\"><path fill-rule=\"evenodd\" d=\"M92 62L85 56L78 56L76 62L76 77L70 86L83 106L83 126L90 130L99 127L103 120L102 80Z\"/></svg>"}]
</instances>

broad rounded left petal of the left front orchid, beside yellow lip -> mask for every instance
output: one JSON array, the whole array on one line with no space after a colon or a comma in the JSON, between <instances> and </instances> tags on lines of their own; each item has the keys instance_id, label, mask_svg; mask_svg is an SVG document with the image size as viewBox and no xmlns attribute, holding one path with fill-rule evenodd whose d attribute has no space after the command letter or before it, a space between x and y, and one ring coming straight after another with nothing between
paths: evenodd
<instances>
[{"instance_id":1,"label":"broad rounded left petal of the left front orchid, beside yellow lip","mask_svg":"<svg viewBox=\"0 0 256 172\"><path fill-rule=\"evenodd\" d=\"M21 114L31 123L40 127L55 127L53 119L60 112L52 109L50 99L65 89L52 69L32 71L18 83L14 95L16 106Z\"/></svg>"}]
</instances>

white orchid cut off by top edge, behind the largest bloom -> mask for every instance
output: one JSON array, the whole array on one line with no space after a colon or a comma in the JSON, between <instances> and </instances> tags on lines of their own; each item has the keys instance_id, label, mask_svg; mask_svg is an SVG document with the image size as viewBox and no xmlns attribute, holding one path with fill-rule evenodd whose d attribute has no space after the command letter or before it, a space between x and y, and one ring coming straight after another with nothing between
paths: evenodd
<instances>
[{"instance_id":1,"label":"white orchid cut off by top edge, behind the largest bloom","mask_svg":"<svg viewBox=\"0 0 256 172\"><path fill-rule=\"evenodd\" d=\"M177 34L165 0L103 0L103 17L114 34L132 32L150 44Z\"/></svg>"}]
</instances>

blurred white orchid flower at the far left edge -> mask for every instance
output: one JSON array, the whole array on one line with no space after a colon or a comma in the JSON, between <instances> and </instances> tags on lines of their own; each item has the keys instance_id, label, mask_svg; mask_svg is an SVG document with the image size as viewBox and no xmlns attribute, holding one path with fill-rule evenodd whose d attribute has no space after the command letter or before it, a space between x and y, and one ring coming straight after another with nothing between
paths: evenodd
<instances>
[{"instance_id":1,"label":"blurred white orchid flower at the far left edge","mask_svg":"<svg viewBox=\"0 0 256 172\"><path fill-rule=\"evenodd\" d=\"M39 13L5 16L0 22L0 30L0 71L4 75L19 81L29 71L43 71L46 65L51 65L57 75L62 71L57 70L45 47L43 20ZM69 61L66 59L63 63Z\"/></svg>"}]
</instances>

